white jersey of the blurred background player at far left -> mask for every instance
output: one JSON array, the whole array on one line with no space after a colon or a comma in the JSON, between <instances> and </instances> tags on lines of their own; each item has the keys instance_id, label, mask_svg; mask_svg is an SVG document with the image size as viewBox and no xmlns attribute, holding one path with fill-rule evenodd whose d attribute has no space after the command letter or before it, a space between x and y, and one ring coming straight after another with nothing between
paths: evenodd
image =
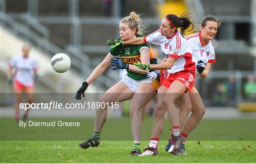
<instances>
[{"instance_id":1,"label":"white jersey of the blurred background player at far left","mask_svg":"<svg viewBox=\"0 0 256 164\"><path fill-rule=\"evenodd\" d=\"M14 57L9 66L15 69L14 79L24 86L34 85L34 70L37 70L37 62L33 57L24 58L23 55Z\"/></svg>"}]
</instances>

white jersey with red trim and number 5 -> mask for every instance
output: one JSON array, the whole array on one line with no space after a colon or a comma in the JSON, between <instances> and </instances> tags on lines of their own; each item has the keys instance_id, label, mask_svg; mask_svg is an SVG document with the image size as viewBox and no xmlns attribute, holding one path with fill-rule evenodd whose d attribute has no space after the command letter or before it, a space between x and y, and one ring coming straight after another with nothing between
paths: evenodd
<instances>
[{"instance_id":1,"label":"white jersey with red trim and number 5","mask_svg":"<svg viewBox=\"0 0 256 164\"><path fill-rule=\"evenodd\" d=\"M214 47L211 45L211 41L207 45L202 45L201 32L191 34L185 37L189 46L192 48L192 55L197 61L202 60L204 63L215 63Z\"/></svg>"}]
</instances>

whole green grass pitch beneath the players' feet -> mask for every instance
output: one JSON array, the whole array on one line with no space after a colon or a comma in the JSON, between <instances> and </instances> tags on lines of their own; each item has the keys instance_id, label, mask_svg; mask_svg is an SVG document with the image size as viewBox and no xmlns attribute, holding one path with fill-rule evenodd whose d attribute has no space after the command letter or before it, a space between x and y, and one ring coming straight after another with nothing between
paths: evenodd
<instances>
[{"instance_id":1,"label":"whole green grass pitch beneath the players' feet","mask_svg":"<svg viewBox=\"0 0 256 164\"><path fill-rule=\"evenodd\" d=\"M14 118L0 119L0 163L256 163L256 119L204 119L185 143L188 155L165 152L170 124L159 142L158 156L129 155L133 140L130 118L108 119L99 147L81 149L91 136L93 118L30 118L79 121L80 127L22 128ZM153 118L142 124L141 147L149 144ZM227 141L229 140L229 141Z\"/></svg>"}]
</instances>

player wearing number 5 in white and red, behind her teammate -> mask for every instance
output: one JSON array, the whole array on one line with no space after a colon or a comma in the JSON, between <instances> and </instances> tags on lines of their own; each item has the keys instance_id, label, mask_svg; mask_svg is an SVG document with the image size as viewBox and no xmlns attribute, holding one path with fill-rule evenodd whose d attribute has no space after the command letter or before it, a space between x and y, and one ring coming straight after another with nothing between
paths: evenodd
<instances>
[{"instance_id":1,"label":"player wearing number 5 in white and red, behind her teammate","mask_svg":"<svg viewBox=\"0 0 256 164\"><path fill-rule=\"evenodd\" d=\"M215 53L214 47L211 44L211 39L213 39L217 34L217 29L219 26L220 21L217 18L207 16L201 21L200 32L185 37L188 44L192 48L192 55L196 57L198 61L196 75L200 75L202 78L207 77L210 71L211 63L215 63ZM200 123L201 118L205 113L205 107L203 105L201 96L195 87L192 87L188 95L192 104L192 114L183 125L181 131L181 141L185 140L191 131ZM177 103L177 105L179 106L182 104ZM187 113L187 115L188 114L189 113ZM186 118L186 115L180 116L180 121L183 122L186 120ZM167 151L171 145L172 143L170 139L165 150ZM185 147L183 145L179 148L178 153L186 154Z\"/></svg>"}]
</instances>

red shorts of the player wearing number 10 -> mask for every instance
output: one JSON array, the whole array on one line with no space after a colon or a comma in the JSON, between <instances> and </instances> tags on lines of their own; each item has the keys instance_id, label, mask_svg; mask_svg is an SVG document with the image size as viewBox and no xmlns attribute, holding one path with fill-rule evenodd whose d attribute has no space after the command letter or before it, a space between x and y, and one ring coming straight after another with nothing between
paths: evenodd
<instances>
[{"instance_id":1,"label":"red shorts of the player wearing number 10","mask_svg":"<svg viewBox=\"0 0 256 164\"><path fill-rule=\"evenodd\" d=\"M189 91L191 91L194 86L196 76L195 73L191 73L188 71L181 71L178 73L170 73L168 76L168 72L166 70L162 70L160 74L160 85L164 85L166 88L169 88L174 80L182 82Z\"/></svg>"}]
</instances>

